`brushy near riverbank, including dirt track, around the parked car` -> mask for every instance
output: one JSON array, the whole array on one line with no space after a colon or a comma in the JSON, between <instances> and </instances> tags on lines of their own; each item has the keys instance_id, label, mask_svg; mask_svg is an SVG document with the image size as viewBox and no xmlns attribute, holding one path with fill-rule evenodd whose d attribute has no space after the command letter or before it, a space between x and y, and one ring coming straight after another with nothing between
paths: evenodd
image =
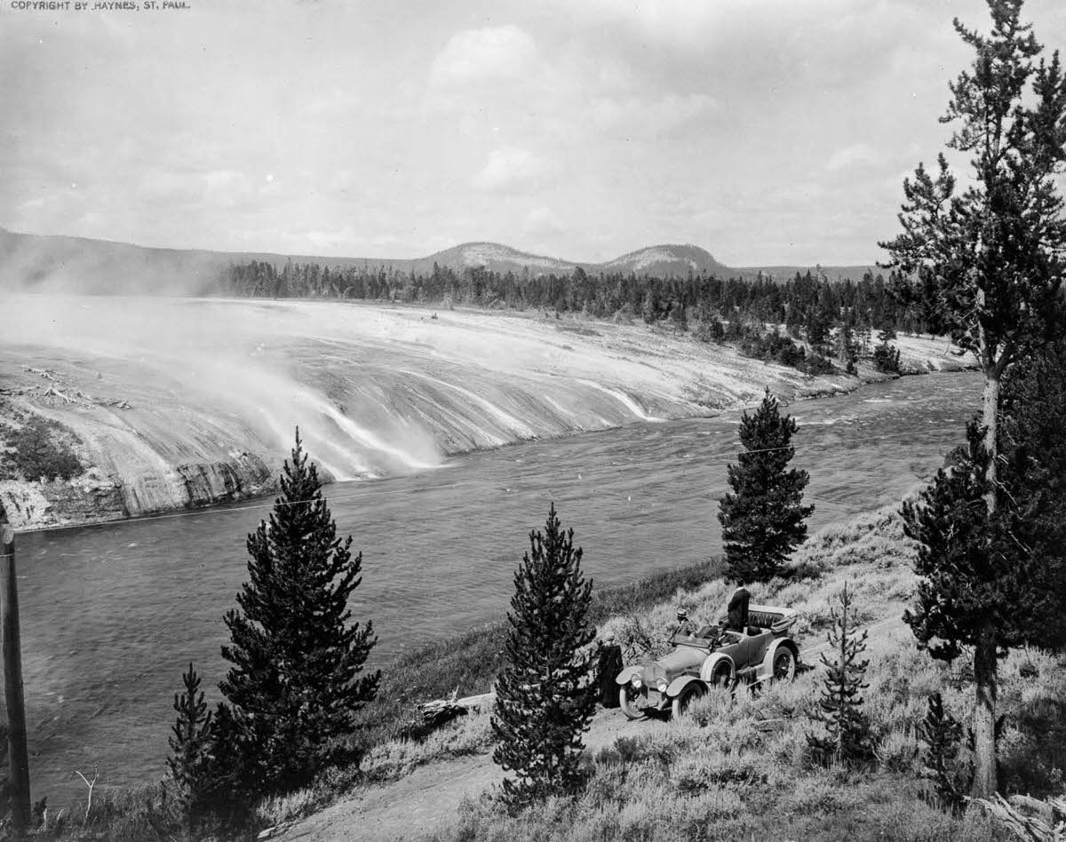
<instances>
[{"instance_id":1,"label":"brushy near riverbank, including dirt track, around the parked car","mask_svg":"<svg viewBox=\"0 0 1066 842\"><path fill-rule=\"evenodd\" d=\"M915 546L902 533L898 506L821 530L794 555L795 573L758 586L756 598L800 613L795 636L802 659L815 665L825 650L829 609L844 583L861 626L870 629L870 686L863 693L876 751L869 768L823 768L806 755L807 711L821 690L821 670L758 695L717 695L679 722L627 720L616 709L597 712L585 735L589 781L572 803L551 801L508 816L490 797L502 780L491 760L487 712L474 712L429 735L394 729L368 740L359 768L334 770L307 790L256 807L259 838L326 842L351 840L770 838L780 827L796 840L958 840L991 842L1001 828L976 811L955 817L936 809L922 777L917 726L928 694L966 723L972 690L964 663L949 667L915 646L900 621L915 585ZM594 609L600 636L615 634L641 655L643 631L666 628L679 604L691 616L716 617L728 587L713 563L651 577L628 589L601 594ZM463 674L465 687L491 684L499 666L486 641L492 628L426 647L387 671L422 684L393 707L448 695ZM652 641L655 644L655 641ZM486 657L487 655L487 657ZM407 673L402 674L402 663ZM464 673L464 666L466 671ZM1045 795L1061 787L1066 734L1054 717L1066 693L1061 658L1012 652L1001 664L1001 775L1007 791ZM461 691L461 694L464 691ZM384 709L381 709L384 710ZM965 748L963 758L965 761ZM86 811L71 805L69 820L41 838L114 840L157 838L167 819L159 787L107 792ZM53 815L52 811L49 815ZM81 816L85 820L82 822ZM268 828L261 830L260 828ZM165 828L164 828L165 829ZM94 838L96 838L94 837Z\"/></svg>"}]
</instances>

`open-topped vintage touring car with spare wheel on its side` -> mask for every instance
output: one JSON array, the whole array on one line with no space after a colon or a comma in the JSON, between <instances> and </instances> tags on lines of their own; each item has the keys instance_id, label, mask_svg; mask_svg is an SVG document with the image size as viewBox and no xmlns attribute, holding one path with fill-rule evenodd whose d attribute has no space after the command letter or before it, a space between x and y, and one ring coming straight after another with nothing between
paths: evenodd
<instances>
[{"instance_id":1,"label":"open-topped vintage touring car with spare wheel on its side","mask_svg":"<svg viewBox=\"0 0 1066 842\"><path fill-rule=\"evenodd\" d=\"M695 633L681 629L671 638L674 651L623 669L616 679L621 712L630 719L649 711L677 716L712 685L732 689L795 678L800 647L787 634L795 611L750 605L747 619L739 632L713 626Z\"/></svg>"}]
</instances>

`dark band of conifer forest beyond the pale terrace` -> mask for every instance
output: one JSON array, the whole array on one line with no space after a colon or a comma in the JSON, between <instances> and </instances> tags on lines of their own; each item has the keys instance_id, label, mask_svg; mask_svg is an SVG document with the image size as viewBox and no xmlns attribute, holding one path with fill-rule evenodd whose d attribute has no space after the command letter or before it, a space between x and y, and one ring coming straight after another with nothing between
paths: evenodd
<instances>
[{"instance_id":1,"label":"dark band of conifer forest beyond the pale terrace","mask_svg":"<svg viewBox=\"0 0 1066 842\"><path fill-rule=\"evenodd\" d=\"M878 371L900 371L890 343L899 330L923 333L936 321L920 296L898 277L867 272L858 281L829 280L807 271L778 284L769 278L691 275L687 279L633 274L593 277L521 276L484 269L456 274L434 264L431 275L394 269L270 262L231 265L219 291L239 296L325 297L413 304L542 309L588 318L640 319L702 342L729 343L757 359L807 374L839 367L855 372L863 357ZM939 322L937 322L939 324ZM784 325L784 333L780 326ZM876 331L876 342L874 341Z\"/></svg>"}]
</instances>

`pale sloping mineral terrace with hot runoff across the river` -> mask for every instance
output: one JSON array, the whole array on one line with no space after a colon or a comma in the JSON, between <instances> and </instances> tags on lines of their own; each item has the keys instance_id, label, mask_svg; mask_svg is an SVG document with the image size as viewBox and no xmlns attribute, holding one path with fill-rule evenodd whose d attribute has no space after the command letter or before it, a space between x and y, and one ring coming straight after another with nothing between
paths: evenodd
<instances>
[{"instance_id":1,"label":"pale sloping mineral terrace with hot runoff across the river","mask_svg":"<svg viewBox=\"0 0 1066 842\"><path fill-rule=\"evenodd\" d=\"M83 471L9 472L16 529L140 517L270 493L300 426L332 479L633 421L714 416L769 387L791 402L886 378L810 377L644 324L337 302L15 296L0 424L44 418ZM908 373L968 368L897 340Z\"/></svg>"}]
</instances>

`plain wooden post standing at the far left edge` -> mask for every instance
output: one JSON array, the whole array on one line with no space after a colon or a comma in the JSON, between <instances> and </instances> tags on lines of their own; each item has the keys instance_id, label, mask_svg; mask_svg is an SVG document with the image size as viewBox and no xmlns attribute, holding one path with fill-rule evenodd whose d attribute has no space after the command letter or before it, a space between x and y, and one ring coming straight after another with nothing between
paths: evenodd
<instances>
[{"instance_id":1,"label":"plain wooden post standing at the far left edge","mask_svg":"<svg viewBox=\"0 0 1066 842\"><path fill-rule=\"evenodd\" d=\"M30 756L26 748L22 702L22 651L18 631L18 581L15 578L15 531L0 503L0 636L3 689L7 705L7 756L11 760L11 822L16 838L30 827Z\"/></svg>"}]
</instances>

